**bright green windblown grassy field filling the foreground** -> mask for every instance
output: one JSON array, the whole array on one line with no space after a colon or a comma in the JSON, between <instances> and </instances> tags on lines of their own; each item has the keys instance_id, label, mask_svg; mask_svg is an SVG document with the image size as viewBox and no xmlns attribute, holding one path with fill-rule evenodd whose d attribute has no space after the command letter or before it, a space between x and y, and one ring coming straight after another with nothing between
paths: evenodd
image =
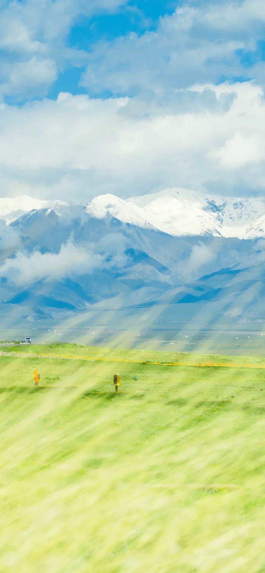
<instances>
[{"instance_id":1,"label":"bright green windblown grassy field filling the foreground","mask_svg":"<svg viewBox=\"0 0 265 573\"><path fill-rule=\"evenodd\" d=\"M265 573L264 370L1 350L16 353L0 357L1 573ZM35 368L50 388L34 388Z\"/></svg>"}]
</instances>

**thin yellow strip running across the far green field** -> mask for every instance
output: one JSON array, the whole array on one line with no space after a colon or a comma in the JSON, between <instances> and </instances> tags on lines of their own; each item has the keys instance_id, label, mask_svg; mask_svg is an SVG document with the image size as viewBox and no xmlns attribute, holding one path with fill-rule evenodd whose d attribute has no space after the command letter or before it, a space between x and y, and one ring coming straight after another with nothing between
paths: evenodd
<instances>
[{"instance_id":1,"label":"thin yellow strip running across the far green field","mask_svg":"<svg viewBox=\"0 0 265 573\"><path fill-rule=\"evenodd\" d=\"M70 358L76 360L91 360L92 362L124 362L133 364L158 364L160 366L193 366L193 367L226 367L226 368L265 368L265 364L233 364L227 362L151 362L151 360L128 360L122 358L102 358L101 356L73 356L67 354L38 354L47 358Z\"/></svg>"}]
</instances>

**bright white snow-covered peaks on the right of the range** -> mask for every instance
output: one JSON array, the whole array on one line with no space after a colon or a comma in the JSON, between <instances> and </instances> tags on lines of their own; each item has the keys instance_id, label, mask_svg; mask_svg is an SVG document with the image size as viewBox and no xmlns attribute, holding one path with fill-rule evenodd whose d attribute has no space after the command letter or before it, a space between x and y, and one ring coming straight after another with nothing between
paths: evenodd
<instances>
[{"instance_id":1,"label":"bright white snow-covered peaks on the right of the range","mask_svg":"<svg viewBox=\"0 0 265 573\"><path fill-rule=\"evenodd\" d=\"M124 223L174 237L212 234L252 239L265 235L263 199L216 197L172 187L130 199L100 195L86 210L97 218L109 213Z\"/></svg>"}]
</instances>

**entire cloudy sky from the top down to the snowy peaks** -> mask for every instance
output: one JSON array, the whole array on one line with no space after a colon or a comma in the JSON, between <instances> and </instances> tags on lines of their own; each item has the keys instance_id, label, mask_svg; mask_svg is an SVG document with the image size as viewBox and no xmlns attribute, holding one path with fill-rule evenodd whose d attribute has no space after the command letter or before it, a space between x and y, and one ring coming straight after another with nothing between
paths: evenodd
<instances>
[{"instance_id":1,"label":"entire cloudy sky from the top down to the snowy peaks","mask_svg":"<svg viewBox=\"0 0 265 573\"><path fill-rule=\"evenodd\" d=\"M2 196L264 194L264 60L264 0L0 0Z\"/></svg>"}]
</instances>

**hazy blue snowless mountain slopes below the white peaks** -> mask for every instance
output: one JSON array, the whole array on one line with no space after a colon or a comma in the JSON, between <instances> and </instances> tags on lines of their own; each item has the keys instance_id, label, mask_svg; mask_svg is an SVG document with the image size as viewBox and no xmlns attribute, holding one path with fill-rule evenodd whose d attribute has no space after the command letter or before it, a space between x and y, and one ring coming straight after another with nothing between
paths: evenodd
<instances>
[{"instance_id":1,"label":"hazy blue snowless mountain slopes below the white peaks","mask_svg":"<svg viewBox=\"0 0 265 573\"><path fill-rule=\"evenodd\" d=\"M265 319L263 240L173 237L81 206L31 211L6 228L3 329L71 320L84 328L110 320L124 329L172 321L239 327Z\"/></svg>"}]
</instances>

